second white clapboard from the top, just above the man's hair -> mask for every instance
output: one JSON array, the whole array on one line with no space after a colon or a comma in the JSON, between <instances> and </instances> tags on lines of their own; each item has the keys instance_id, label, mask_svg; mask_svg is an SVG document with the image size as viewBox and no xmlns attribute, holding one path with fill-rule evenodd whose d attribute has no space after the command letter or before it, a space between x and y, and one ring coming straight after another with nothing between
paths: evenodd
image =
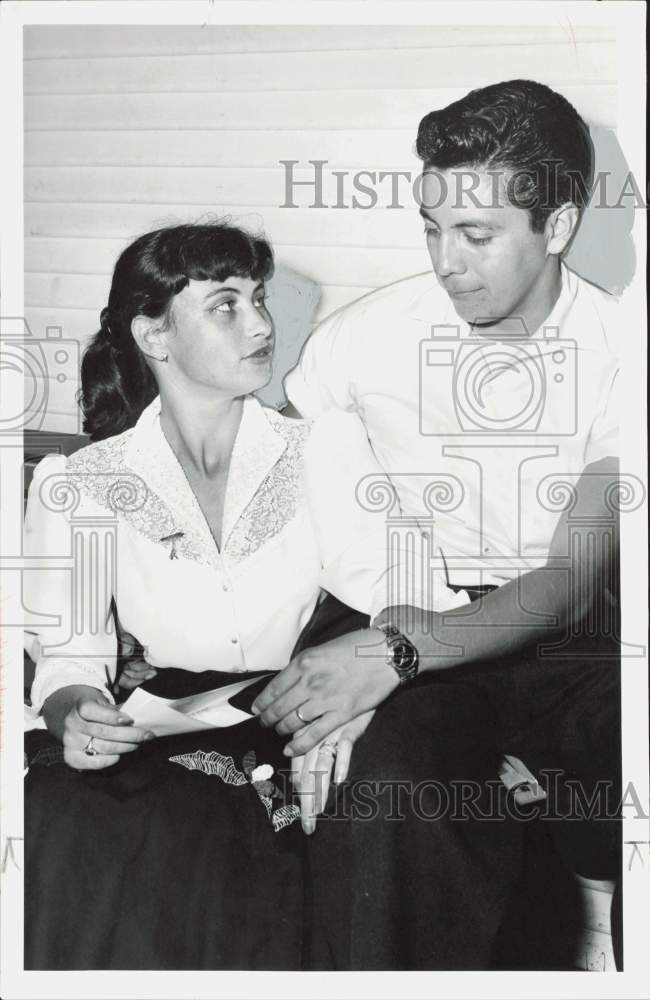
<instances>
[{"instance_id":1,"label":"second white clapboard from the top, just above the man's hair","mask_svg":"<svg viewBox=\"0 0 650 1000\"><path fill-rule=\"evenodd\" d=\"M549 55L552 52L553 58ZM476 87L494 80L495 66L508 65L511 77L532 78L551 86L611 83L613 42L568 40L553 46L483 45L471 59L456 48L345 49L337 52L237 52L219 55L138 56L92 59L37 59L25 64L26 94L174 93L233 91L291 93L320 90L409 90L436 86ZM175 86L171 87L170 83Z\"/></svg>"}]
</instances>

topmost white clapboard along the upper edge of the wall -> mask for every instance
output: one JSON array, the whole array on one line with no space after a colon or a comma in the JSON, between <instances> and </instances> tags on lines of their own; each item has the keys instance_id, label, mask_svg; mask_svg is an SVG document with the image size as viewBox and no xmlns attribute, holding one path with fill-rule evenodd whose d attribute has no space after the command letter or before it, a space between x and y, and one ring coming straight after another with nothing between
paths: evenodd
<instances>
[{"instance_id":1,"label":"topmost white clapboard along the upper edge of the wall","mask_svg":"<svg viewBox=\"0 0 650 1000\"><path fill-rule=\"evenodd\" d=\"M552 19L549 11L548 20ZM344 49L476 48L484 45L550 45L612 41L608 28L538 25L56 25L25 28L28 59L99 56L196 55L221 52L319 52Z\"/></svg>"}]
</instances>

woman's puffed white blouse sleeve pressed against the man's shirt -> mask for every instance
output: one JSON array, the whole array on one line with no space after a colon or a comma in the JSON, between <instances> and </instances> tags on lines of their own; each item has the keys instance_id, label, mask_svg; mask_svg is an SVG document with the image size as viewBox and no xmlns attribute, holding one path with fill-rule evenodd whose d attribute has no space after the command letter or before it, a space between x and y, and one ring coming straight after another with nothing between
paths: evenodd
<instances>
[{"instance_id":1,"label":"woman's puffed white blouse sleeve pressed against the man's shirt","mask_svg":"<svg viewBox=\"0 0 650 1000\"><path fill-rule=\"evenodd\" d=\"M324 590L371 618L392 605L447 611L467 603L432 569L418 525L400 517L390 477L356 413L315 421L305 470Z\"/></svg>"}]
</instances>

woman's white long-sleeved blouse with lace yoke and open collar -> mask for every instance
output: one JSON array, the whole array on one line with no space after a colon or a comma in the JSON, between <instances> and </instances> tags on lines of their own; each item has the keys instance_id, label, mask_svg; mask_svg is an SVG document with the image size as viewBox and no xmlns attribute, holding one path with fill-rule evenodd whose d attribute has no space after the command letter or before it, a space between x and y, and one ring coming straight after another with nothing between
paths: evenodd
<instances>
[{"instance_id":1,"label":"woman's white long-sleeved blouse with lace yoke and open collar","mask_svg":"<svg viewBox=\"0 0 650 1000\"><path fill-rule=\"evenodd\" d=\"M69 458L48 455L25 519L32 704L69 684L110 697L115 612L156 668L281 669L321 585L369 614L387 603L385 527L355 480L380 472L355 414L310 425L244 402L219 551L160 426L136 426ZM395 561L395 554L391 558ZM444 586L436 599L463 599ZM32 619L33 620L33 619Z\"/></svg>"}]
</instances>

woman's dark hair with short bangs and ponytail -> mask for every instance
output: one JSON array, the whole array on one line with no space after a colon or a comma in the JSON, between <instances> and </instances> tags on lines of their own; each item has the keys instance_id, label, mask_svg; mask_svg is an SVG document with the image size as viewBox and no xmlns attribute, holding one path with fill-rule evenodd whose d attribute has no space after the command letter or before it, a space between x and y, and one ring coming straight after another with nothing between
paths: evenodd
<instances>
[{"instance_id":1,"label":"woman's dark hair with short bangs and ponytail","mask_svg":"<svg viewBox=\"0 0 650 1000\"><path fill-rule=\"evenodd\" d=\"M133 427L158 393L131 334L135 316L164 316L190 279L264 281L272 273L267 241L226 222L169 226L131 243L115 265L100 329L81 362L79 404L91 440Z\"/></svg>"}]
</instances>

